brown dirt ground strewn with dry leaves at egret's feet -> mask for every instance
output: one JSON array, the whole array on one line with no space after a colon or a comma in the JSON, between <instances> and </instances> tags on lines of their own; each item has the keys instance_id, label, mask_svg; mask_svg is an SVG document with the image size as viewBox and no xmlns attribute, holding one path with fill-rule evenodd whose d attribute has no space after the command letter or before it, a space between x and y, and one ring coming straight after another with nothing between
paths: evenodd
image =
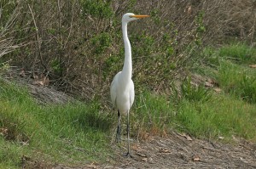
<instances>
[{"instance_id":1,"label":"brown dirt ground strewn with dry leaves at egret's feet","mask_svg":"<svg viewBox=\"0 0 256 169\"><path fill-rule=\"evenodd\" d=\"M155 137L148 142L132 143L132 158L123 156L125 147L116 144L112 147L115 155L109 159L108 164L92 163L73 167L57 165L53 168L256 168L256 144L242 139L236 139L232 145L220 144L173 132L168 138Z\"/></svg>"}]
</instances>

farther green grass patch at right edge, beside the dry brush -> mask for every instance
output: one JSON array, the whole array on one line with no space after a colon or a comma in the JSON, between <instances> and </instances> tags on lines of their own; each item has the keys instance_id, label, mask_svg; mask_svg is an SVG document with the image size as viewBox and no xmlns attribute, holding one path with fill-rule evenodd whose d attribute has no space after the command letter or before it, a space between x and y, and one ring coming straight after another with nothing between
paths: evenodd
<instances>
[{"instance_id":1,"label":"farther green grass patch at right edge, beside the dry brush","mask_svg":"<svg viewBox=\"0 0 256 169\"><path fill-rule=\"evenodd\" d=\"M202 53L207 65L197 71L215 79L225 93L235 95L248 103L256 103L256 49L246 44L226 45L222 48L205 48Z\"/></svg>"}]
</instances>

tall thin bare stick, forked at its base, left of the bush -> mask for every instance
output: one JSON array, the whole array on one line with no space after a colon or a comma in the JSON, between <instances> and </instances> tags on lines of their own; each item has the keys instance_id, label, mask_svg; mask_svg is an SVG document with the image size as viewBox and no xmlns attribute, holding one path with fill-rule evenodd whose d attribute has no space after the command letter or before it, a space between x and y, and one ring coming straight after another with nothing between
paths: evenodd
<instances>
[{"instance_id":1,"label":"tall thin bare stick, forked at its base, left of the bush","mask_svg":"<svg viewBox=\"0 0 256 169\"><path fill-rule=\"evenodd\" d=\"M44 69L45 69L46 71L47 71L47 67L46 67L46 65L44 65L43 58L42 58L42 55L41 55L41 53L40 53L40 52L41 52L41 41L40 41L39 35L38 35L38 26L37 26L37 23L36 23L34 14L32 13L32 8L30 7L29 4L27 4L27 5L28 5L28 8L29 8L29 10L30 10L30 13L32 14L32 20L33 20L33 23L34 23L35 28L36 28L37 41L38 41L38 52L37 52L36 58L34 59L34 62L33 62L33 64L32 64L32 72L33 72L33 74L34 74L34 73L35 73L35 65L36 65L36 61L37 61L37 59L38 59L38 56L39 56L39 59L40 59L41 64L44 66Z\"/></svg>"}]
</instances>

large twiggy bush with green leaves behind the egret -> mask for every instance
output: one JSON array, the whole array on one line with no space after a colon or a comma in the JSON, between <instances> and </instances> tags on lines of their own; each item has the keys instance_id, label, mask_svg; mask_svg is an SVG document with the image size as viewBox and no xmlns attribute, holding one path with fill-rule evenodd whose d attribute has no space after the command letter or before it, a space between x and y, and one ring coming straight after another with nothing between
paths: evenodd
<instances>
[{"instance_id":1,"label":"large twiggy bush with green leaves behind the egret","mask_svg":"<svg viewBox=\"0 0 256 169\"><path fill-rule=\"evenodd\" d=\"M15 50L11 65L48 75L55 86L84 99L107 97L114 74L121 70L120 20L126 12L151 15L128 29L137 87L158 91L170 87L173 76L195 62L203 46L222 41L227 32L240 36L236 34L241 26L233 23L240 22L242 14L250 20L242 28L245 37L255 38L253 15L244 13L252 7L249 0L237 0L233 6L228 0L25 0L8 4L3 5L1 25L17 7L18 15L11 22L15 31L8 37L26 43ZM236 7L241 9L238 15Z\"/></svg>"}]
</instances>

